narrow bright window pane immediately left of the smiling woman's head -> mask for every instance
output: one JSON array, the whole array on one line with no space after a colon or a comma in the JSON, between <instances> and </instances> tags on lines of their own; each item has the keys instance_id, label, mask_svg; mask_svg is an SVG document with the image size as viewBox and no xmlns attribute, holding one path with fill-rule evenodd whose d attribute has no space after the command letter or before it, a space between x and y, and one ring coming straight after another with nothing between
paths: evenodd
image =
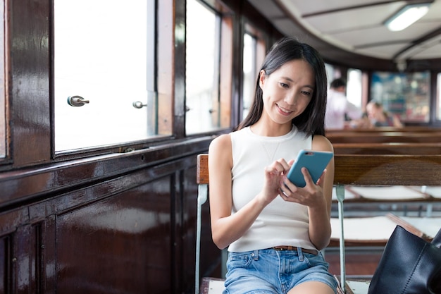
<instances>
[{"instance_id":1,"label":"narrow bright window pane immediately left of the smiling woman's head","mask_svg":"<svg viewBox=\"0 0 441 294\"><path fill-rule=\"evenodd\" d=\"M256 38L244 34L242 118L247 117L256 86Z\"/></svg>"}]
</instances>

